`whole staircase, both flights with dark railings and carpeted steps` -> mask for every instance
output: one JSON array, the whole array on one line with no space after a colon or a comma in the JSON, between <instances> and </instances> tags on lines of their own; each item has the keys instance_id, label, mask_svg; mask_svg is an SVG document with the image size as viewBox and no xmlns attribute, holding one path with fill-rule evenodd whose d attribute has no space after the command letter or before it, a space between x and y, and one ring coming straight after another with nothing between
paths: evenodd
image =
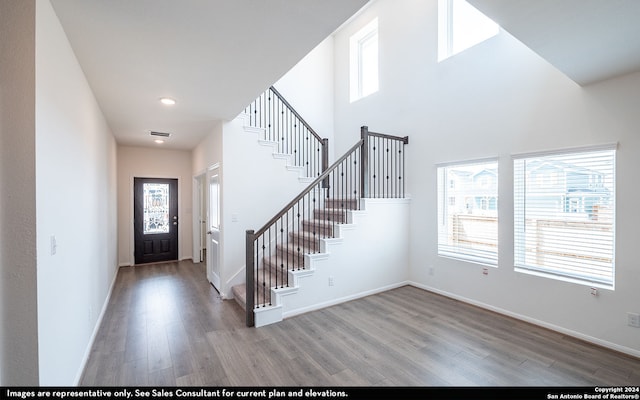
<instances>
[{"instance_id":1,"label":"whole staircase, both flights with dark railings and carpeted steps","mask_svg":"<svg viewBox=\"0 0 640 400\"><path fill-rule=\"evenodd\" d=\"M328 166L327 140L275 88L260 95L245 114L251 126L264 130L264 141L274 144L275 153L311 181L261 229L246 232L245 283L231 292L246 312L247 326L263 326L282 320L291 309L283 296L297 302L298 310L308 304L309 298L300 297L305 296L300 279L318 284L313 283L313 264L329 257L326 247L340 240L354 213L363 211L365 199L404 198L408 138L369 132L363 126L361 139Z\"/></svg>"}]
</instances>

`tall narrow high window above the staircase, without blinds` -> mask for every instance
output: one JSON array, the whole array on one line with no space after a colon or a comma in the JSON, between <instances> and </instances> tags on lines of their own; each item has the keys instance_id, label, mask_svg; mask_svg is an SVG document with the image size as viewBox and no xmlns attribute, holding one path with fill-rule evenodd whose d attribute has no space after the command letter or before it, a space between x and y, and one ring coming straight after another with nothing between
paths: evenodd
<instances>
[{"instance_id":1,"label":"tall narrow high window above the staircase, without blinds","mask_svg":"<svg viewBox=\"0 0 640 400\"><path fill-rule=\"evenodd\" d=\"M378 91L378 19L374 19L349 42L350 99L354 102Z\"/></svg>"}]
</instances>

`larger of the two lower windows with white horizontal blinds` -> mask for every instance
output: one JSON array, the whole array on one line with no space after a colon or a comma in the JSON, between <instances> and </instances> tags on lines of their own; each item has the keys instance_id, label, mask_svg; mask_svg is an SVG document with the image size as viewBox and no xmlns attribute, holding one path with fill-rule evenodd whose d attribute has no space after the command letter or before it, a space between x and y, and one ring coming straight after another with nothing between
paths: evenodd
<instances>
[{"instance_id":1,"label":"larger of the two lower windows with white horizontal blinds","mask_svg":"<svg viewBox=\"0 0 640 400\"><path fill-rule=\"evenodd\" d=\"M615 147L514 157L517 271L614 286Z\"/></svg>"}]
</instances>

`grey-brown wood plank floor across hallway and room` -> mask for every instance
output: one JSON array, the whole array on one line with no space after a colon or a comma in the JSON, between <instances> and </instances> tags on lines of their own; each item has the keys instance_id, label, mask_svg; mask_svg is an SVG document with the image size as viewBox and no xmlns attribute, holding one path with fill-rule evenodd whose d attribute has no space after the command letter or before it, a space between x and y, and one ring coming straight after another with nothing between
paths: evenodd
<instances>
[{"instance_id":1,"label":"grey-brown wood plank floor across hallway and room","mask_svg":"<svg viewBox=\"0 0 640 400\"><path fill-rule=\"evenodd\" d=\"M411 286L247 328L204 268L121 268L80 385L640 384L637 358Z\"/></svg>"}]
</instances>

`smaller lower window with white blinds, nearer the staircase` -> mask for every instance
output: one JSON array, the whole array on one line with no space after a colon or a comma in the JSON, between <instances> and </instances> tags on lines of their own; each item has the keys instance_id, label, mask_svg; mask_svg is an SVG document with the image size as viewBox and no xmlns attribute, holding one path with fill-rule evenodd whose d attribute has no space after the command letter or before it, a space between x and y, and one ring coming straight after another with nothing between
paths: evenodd
<instances>
[{"instance_id":1,"label":"smaller lower window with white blinds, nearer the staircase","mask_svg":"<svg viewBox=\"0 0 640 400\"><path fill-rule=\"evenodd\" d=\"M438 255L498 264L498 161L438 166Z\"/></svg>"}]
</instances>

